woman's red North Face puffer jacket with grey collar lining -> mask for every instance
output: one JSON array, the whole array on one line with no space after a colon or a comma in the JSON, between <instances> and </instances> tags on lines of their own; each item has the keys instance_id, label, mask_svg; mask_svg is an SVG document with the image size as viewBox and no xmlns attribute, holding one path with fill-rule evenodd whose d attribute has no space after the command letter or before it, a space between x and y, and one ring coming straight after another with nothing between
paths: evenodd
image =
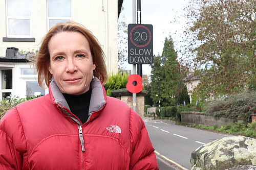
<instances>
[{"instance_id":1,"label":"woman's red North Face puffer jacket with grey collar lining","mask_svg":"<svg viewBox=\"0 0 256 170\"><path fill-rule=\"evenodd\" d=\"M0 169L158 169L139 115L99 81L91 87L83 125L54 79L49 94L9 110L0 122Z\"/></svg>"}]
</instances>

